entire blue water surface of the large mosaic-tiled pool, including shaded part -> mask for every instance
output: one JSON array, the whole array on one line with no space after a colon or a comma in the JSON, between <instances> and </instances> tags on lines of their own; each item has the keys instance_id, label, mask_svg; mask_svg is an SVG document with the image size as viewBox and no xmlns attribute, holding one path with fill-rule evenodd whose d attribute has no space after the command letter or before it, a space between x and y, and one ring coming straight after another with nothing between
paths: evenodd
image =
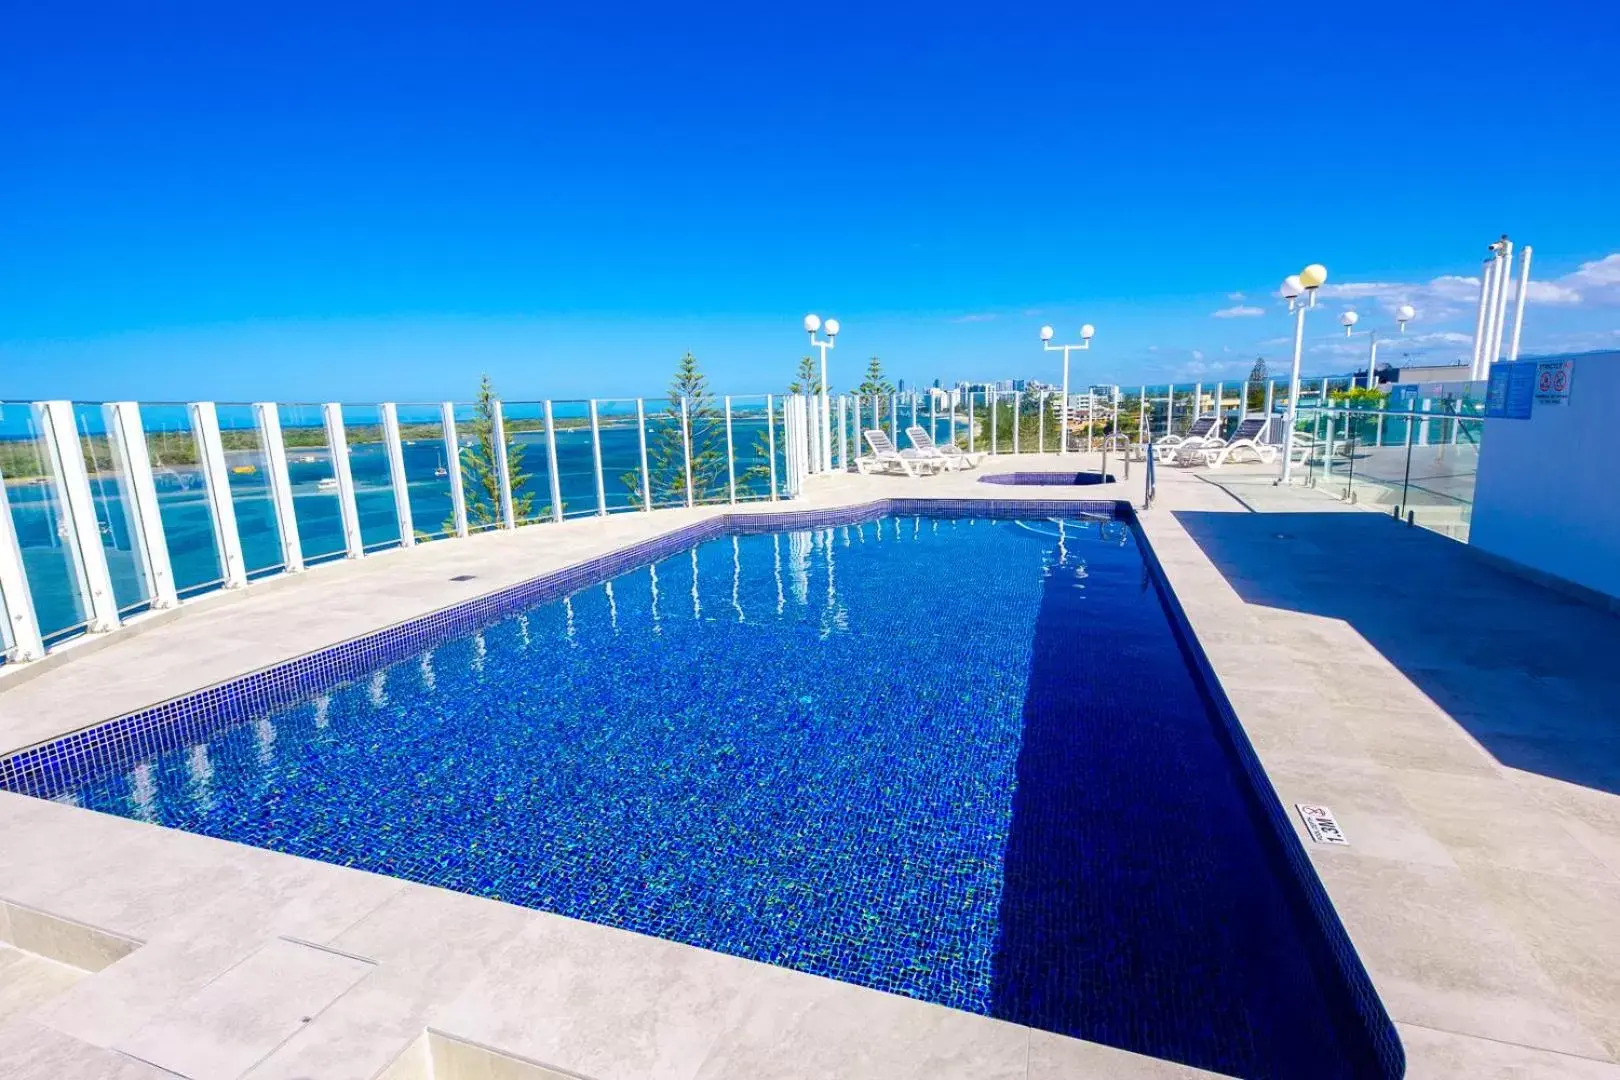
<instances>
[{"instance_id":1,"label":"entire blue water surface of the large mosaic-tiled pool, including shaded part","mask_svg":"<svg viewBox=\"0 0 1620 1080\"><path fill-rule=\"evenodd\" d=\"M66 798L1226 1074L1374 1075L1217 725L1126 523L880 518L705 542Z\"/></svg>"}]
</instances>

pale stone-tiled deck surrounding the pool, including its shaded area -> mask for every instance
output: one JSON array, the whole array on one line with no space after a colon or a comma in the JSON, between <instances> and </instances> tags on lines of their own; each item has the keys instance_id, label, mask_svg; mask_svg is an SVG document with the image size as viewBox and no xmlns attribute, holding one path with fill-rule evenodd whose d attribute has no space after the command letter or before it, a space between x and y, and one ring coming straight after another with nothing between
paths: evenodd
<instances>
[{"instance_id":1,"label":"pale stone-tiled deck surrounding the pool, including its shaded area","mask_svg":"<svg viewBox=\"0 0 1620 1080\"><path fill-rule=\"evenodd\" d=\"M1140 465L1102 487L978 474L836 476L792 504L491 533L217 594L0 677L0 753L716 513L1140 504ZM1280 798L1330 805L1349 836L1306 847L1408 1075L1620 1080L1620 665L1602 662L1620 619L1270 476L1165 470L1142 525ZM11 793L0 829L6 1077L1207 1075Z\"/></svg>"}]
</instances>

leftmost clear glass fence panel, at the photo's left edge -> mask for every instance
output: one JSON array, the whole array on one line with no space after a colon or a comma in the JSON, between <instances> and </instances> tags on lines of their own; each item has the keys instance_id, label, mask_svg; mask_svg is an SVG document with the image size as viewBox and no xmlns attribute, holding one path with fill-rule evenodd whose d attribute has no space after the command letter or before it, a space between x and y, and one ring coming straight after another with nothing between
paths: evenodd
<instances>
[{"instance_id":1,"label":"leftmost clear glass fence panel, at the photo's left edge","mask_svg":"<svg viewBox=\"0 0 1620 1080\"><path fill-rule=\"evenodd\" d=\"M50 447L26 403L0 405L0 476L39 633L52 644L84 630L89 612L83 601L84 570L70 542Z\"/></svg>"}]
</instances>

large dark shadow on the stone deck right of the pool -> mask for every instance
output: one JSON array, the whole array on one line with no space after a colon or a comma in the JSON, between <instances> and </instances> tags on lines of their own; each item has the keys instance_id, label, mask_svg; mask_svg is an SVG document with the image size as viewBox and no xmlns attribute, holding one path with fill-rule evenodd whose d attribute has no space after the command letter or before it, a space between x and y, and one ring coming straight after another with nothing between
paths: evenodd
<instances>
[{"instance_id":1,"label":"large dark shadow on the stone deck right of the pool","mask_svg":"<svg viewBox=\"0 0 1620 1080\"><path fill-rule=\"evenodd\" d=\"M1502 764L1620 793L1620 617L1382 515L1176 520L1246 602L1343 620Z\"/></svg>"}]
</instances>

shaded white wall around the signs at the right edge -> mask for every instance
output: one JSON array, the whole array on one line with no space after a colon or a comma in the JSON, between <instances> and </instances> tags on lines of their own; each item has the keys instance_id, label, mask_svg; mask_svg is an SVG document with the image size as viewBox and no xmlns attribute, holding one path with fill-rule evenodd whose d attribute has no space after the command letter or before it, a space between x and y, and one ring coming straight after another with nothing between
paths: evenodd
<instances>
[{"instance_id":1,"label":"shaded white wall around the signs at the right edge","mask_svg":"<svg viewBox=\"0 0 1620 1080\"><path fill-rule=\"evenodd\" d=\"M1620 597L1620 353L1575 358L1568 405L1486 421L1468 542Z\"/></svg>"}]
</instances>

